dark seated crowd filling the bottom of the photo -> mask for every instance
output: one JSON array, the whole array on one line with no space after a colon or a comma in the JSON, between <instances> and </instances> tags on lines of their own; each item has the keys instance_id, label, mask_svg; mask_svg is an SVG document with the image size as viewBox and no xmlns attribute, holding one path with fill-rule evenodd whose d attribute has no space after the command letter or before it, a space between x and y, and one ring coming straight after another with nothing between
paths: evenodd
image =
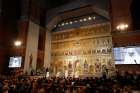
<instances>
[{"instance_id":1,"label":"dark seated crowd filling the bottom of the photo","mask_svg":"<svg viewBox=\"0 0 140 93\"><path fill-rule=\"evenodd\" d=\"M140 93L140 75L120 74L87 78L0 77L0 93Z\"/></svg>"}]
</instances>

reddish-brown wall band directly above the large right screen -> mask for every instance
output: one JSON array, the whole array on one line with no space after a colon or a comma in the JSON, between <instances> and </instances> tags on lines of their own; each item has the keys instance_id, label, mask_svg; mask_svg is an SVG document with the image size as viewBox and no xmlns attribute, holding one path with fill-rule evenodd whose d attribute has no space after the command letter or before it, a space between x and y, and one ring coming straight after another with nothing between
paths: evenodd
<instances>
[{"instance_id":1,"label":"reddish-brown wall band directly above the large right screen","mask_svg":"<svg viewBox=\"0 0 140 93\"><path fill-rule=\"evenodd\" d=\"M140 30L114 31L112 32L113 45L116 46L139 46Z\"/></svg>"}]
</instances>

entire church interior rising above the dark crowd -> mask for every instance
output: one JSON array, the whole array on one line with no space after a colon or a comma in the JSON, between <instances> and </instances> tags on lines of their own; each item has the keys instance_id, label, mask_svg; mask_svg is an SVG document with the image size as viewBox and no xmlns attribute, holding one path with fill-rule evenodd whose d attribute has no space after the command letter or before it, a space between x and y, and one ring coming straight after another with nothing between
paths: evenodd
<instances>
[{"instance_id":1,"label":"entire church interior rising above the dark crowd","mask_svg":"<svg viewBox=\"0 0 140 93\"><path fill-rule=\"evenodd\" d=\"M52 76L83 77L139 71L138 2L0 0L0 73L48 69ZM126 64L122 51L135 47L136 64ZM17 67L10 63L14 58Z\"/></svg>"}]
</instances>

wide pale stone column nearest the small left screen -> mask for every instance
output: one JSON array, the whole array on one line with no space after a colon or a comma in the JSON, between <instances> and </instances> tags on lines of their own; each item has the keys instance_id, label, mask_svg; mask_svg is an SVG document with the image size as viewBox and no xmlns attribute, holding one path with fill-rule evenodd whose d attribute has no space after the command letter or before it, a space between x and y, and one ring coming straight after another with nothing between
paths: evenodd
<instances>
[{"instance_id":1,"label":"wide pale stone column nearest the small left screen","mask_svg":"<svg viewBox=\"0 0 140 93\"><path fill-rule=\"evenodd\" d=\"M39 25L30 21L26 42L24 72L30 73L31 70L36 70L38 39Z\"/></svg>"}]
</instances>

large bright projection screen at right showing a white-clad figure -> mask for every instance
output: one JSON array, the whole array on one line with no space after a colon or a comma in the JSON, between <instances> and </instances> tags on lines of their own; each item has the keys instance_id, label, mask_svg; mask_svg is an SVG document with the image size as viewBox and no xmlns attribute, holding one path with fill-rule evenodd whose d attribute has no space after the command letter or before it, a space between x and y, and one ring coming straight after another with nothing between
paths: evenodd
<instances>
[{"instance_id":1,"label":"large bright projection screen at right showing a white-clad figure","mask_svg":"<svg viewBox=\"0 0 140 93\"><path fill-rule=\"evenodd\" d=\"M116 64L140 64L140 47L114 48Z\"/></svg>"}]
</instances>

